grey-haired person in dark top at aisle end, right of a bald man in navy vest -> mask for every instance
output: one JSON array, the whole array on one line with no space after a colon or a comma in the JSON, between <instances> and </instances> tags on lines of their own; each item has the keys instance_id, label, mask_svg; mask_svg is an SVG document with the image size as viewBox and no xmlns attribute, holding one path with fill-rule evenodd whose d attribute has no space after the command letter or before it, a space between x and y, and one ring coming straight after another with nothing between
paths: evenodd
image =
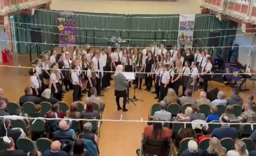
<instances>
[{"instance_id":1,"label":"grey-haired person in dark top at aisle end, right of a bald man in navy vest","mask_svg":"<svg viewBox=\"0 0 256 156\"><path fill-rule=\"evenodd\" d=\"M94 144L97 145L98 137L95 133L92 133L91 129L92 129L92 123L91 122L86 122L83 126L83 132L78 135L78 138L79 139L82 139L82 138L89 139Z\"/></svg>"}]
</instances>

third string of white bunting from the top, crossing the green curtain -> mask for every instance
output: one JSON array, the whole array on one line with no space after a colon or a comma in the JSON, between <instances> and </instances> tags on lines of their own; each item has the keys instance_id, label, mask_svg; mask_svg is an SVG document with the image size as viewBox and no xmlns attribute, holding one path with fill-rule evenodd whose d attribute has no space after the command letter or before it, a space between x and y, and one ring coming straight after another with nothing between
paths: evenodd
<instances>
[{"instance_id":1,"label":"third string of white bunting from the top, crossing the green curtain","mask_svg":"<svg viewBox=\"0 0 256 156\"><path fill-rule=\"evenodd\" d=\"M110 40L111 38L108 37L88 37L88 36L81 36L81 35L70 35L70 34L61 34L61 33L53 33L53 32L45 32L42 30L33 30L33 29L26 29L26 28L20 28L20 27L13 27L10 26L12 28L16 28L16 29L22 29L22 30L28 30L28 31L36 31L36 32L42 32L42 33L50 33L50 34L54 34L54 35L60 35L60 36L75 36L76 38L78 37L82 37L82 38L95 38L95 39L106 39L106 40ZM216 37L203 37L203 38L194 38L193 40L202 40L202 39L210 39L210 38L226 38L226 37L233 37L233 36L240 36L240 35L249 35L249 34L256 34L256 33L245 33L245 34L235 34L235 35L226 35L226 36L216 36ZM177 39L162 39L162 40L149 40L149 39L122 39L122 40L133 40L133 41L177 41ZM203 42L203 41L202 41Z\"/></svg>"}]
</instances>

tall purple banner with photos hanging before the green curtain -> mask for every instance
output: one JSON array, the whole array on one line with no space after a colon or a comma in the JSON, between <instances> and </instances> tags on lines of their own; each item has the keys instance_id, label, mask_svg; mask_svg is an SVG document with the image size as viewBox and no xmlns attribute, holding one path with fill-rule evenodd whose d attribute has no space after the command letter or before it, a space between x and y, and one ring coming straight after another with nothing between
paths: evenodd
<instances>
[{"instance_id":1,"label":"tall purple banner with photos hanging before the green curtain","mask_svg":"<svg viewBox=\"0 0 256 156\"><path fill-rule=\"evenodd\" d=\"M75 37L76 29L70 28L70 27L75 27L75 16L76 15L74 11L58 12L57 18L58 18L59 33L63 34L63 35L59 35L59 44L76 45L76 37Z\"/></svg>"}]
</instances>

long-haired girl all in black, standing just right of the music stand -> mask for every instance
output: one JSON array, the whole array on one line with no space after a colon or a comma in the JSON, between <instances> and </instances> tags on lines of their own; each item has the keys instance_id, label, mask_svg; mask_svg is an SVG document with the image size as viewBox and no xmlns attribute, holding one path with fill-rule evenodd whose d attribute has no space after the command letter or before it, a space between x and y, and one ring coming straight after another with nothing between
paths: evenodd
<instances>
[{"instance_id":1,"label":"long-haired girl all in black, standing just right of the music stand","mask_svg":"<svg viewBox=\"0 0 256 156\"><path fill-rule=\"evenodd\" d=\"M148 57L145 60L145 69L144 72L145 73L150 73L153 69L153 64L154 64L154 58L153 58L153 54L152 51L149 50L148 51ZM151 87L152 87L152 74L145 74L145 84L146 84L146 89L147 91L150 91Z\"/></svg>"}]
</instances>

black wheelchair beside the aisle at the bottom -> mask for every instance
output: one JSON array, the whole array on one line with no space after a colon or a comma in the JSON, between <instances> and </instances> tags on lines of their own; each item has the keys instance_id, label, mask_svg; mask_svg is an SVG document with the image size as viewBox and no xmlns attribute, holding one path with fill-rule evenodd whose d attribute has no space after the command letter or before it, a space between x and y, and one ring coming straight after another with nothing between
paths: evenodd
<instances>
[{"instance_id":1,"label":"black wheelchair beside the aisle at the bottom","mask_svg":"<svg viewBox=\"0 0 256 156\"><path fill-rule=\"evenodd\" d=\"M142 144L139 149L136 150L138 156L148 155L161 155L170 156L170 139L152 139L145 138L142 133Z\"/></svg>"}]
</instances>

